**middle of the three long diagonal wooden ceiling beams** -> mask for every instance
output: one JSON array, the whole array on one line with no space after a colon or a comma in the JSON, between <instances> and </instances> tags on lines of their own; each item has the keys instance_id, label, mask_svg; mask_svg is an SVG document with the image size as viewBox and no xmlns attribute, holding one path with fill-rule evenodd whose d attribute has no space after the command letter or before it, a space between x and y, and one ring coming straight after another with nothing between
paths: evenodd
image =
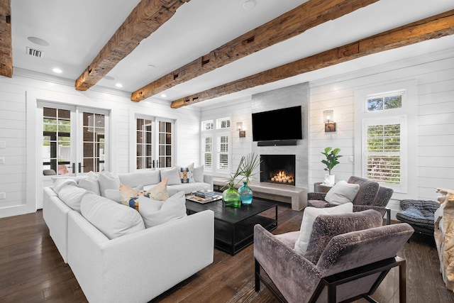
<instances>
[{"instance_id":1,"label":"middle of the three long diagonal wooden ceiling beams","mask_svg":"<svg viewBox=\"0 0 454 303\"><path fill-rule=\"evenodd\" d=\"M249 31L210 53L138 89L131 101L142 101L218 67L297 36L309 28L340 18L378 0L309 0L272 21Z\"/></svg>"}]
</instances>

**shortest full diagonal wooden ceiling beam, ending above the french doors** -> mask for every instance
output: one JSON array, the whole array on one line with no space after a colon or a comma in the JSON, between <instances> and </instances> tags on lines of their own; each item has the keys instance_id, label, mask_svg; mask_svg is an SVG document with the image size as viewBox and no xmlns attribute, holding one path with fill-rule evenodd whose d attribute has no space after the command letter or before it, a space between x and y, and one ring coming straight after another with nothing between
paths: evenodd
<instances>
[{"instance_id":1,"label":"shortest full diagonal wooden ceiling beam, ending above the french doors","mask_svg":"<svg viewBox=\"0 0 454 303\"><path fill-rule=\"evenodd\" d=\"M107 75L139 43L169 20L175 11L190 0L141 0L116 30L93 62L77 78L75 87L85 91Z\"/></svg>"}]
</instances>

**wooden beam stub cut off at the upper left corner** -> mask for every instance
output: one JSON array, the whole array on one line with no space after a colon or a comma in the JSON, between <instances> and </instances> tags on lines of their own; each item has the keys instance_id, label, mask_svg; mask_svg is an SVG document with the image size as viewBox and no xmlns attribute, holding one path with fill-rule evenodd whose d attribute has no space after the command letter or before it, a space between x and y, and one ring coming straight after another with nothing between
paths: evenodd
<instances>
[{"instance_id":1,"label":"wooden beam stub cut off at the upper left corner","mask_svg":"<svg viewBox=\"0 0 454 303\"><path fill-rule=\"evenodd\" d=\"M0 0L0 75L13 77L10 0Z\"/></svg>"}]
</instances>

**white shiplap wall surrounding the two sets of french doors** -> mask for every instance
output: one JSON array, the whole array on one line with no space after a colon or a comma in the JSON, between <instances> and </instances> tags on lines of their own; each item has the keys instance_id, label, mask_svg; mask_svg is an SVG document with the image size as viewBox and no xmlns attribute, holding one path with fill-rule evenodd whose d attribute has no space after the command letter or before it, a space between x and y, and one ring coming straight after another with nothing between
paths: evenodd
<instances>
[{"instance_id":1,"label":"white shiplap wall surrounding the two sets of french doors","mask_svg":"<svg viewBox=\"0 0 454 303\"><path fill-rule=\"evenodd\" d=\"M111 171L131 170L135 155L130 148L131 125L135 121L130 118L135 113L174 120L175 162L199 164L199 109L171 109L170 102L162 100L135 103L130 94L100 92L96 87L79 92L72 81L14 70L13 78L0 77L0 141L6 142L6 148L0 148L0 157L6 160L0 165L0 192L6 192L6 199L0 199L0 217L35 211L40 195L36 184L40 159L35 153L41 139L35 132L37 100L109 110Z\"/></svg>"}]
</instances>

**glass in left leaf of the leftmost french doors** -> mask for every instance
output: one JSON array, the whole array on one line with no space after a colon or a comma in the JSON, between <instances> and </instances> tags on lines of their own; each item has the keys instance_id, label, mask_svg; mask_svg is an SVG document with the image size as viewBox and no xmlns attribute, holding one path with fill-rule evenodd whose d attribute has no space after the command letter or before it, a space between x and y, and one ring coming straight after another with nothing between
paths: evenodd
<instances>
[{"instance_id":1,"label":"glass in left leaf of the leftmost french doors","mask_svg":"<svg viewBox=\"0 0 454 303\"><path fill-rule=\"evenodd\" d=\"M70 174L71 111L43 107L43 175Z\"/></svg>"}]
</instances>

